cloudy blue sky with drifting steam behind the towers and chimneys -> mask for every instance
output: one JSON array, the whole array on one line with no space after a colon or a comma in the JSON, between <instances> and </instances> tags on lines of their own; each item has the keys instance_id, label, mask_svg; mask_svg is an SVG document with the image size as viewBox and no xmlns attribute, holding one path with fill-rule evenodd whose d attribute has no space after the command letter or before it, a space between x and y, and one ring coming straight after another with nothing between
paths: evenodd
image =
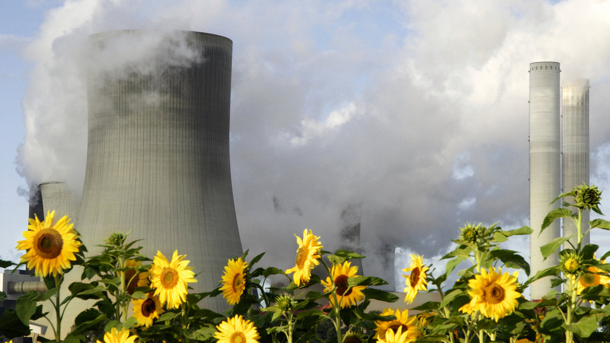
<instances>
[{"instance_id":1,"label":"cloudy blue sky with drifting steam behind the towers and chimneys","mask_svg":"<svg viewBox=\"0 0 610 343\"><path fill-rule=\"evenodd\" d=\"M442 255L467 221L526 225L530 62L590 79L591 181L610 185L607 2L4 1L2 258L18 257L12 242L26 224L16 167L28 181L82 190L82 42L133 28L233 40L235 208L243 245L273 249L274 261L292 255L303 228L337 244L350 206L375 256L369 270L388 244L402 251L397 265L410 251ZM269 247L271 234L284 244ZM606 234L594 239L610 248Z\"/></svg>"}]
</instances>

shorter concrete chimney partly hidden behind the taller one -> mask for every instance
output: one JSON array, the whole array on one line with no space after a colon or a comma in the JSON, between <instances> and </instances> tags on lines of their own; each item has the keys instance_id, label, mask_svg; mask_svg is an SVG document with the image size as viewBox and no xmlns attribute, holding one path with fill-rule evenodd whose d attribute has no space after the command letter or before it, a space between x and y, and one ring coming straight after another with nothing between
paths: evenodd
<instances>
[{"instance_id":1,"label":"shorter concrete chimney partly hidden behind the taller one","mask_svg":"<svg viewBox=\"0 0 610 343\"><path fill-rule=\"evenodd\" d=\"M589 183L589 80L576 79L562 83L562 192ZM563 199L572 203L573 198ZM574 209L574 208L570 208ZM564 218L564 237L576 233L576 225ZM589 229L589 211L583 211L582 229ZM576 246L576 237L570 239ZM589 244L589 235L583 237L583 246ZM572 248L567 242L564 248Z\"/></svg>"}]
</instances>

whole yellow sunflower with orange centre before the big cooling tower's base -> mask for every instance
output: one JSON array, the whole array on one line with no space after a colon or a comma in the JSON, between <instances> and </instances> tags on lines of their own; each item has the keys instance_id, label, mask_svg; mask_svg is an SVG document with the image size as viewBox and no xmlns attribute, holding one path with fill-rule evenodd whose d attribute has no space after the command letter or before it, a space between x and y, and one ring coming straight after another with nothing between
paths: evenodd
<instances>
[{"instance_id":1,"label":"whole yellow sunflower with orange centre before the big cooling tower's base","mask_svg":"<svg viewBox=\"0 0 610 343\"><path fill-rule=\"evenodd\" d=\"M159 295L161 305L167 303L167 308L178 308L187 298L187 283L197 282L192 267L187 267L189 261L184 260L186 255L178 255L178 250L171 256L171 262L163 256L161 251L151 264L150 278L154 295Z\"/></svg>"}]
</instances>

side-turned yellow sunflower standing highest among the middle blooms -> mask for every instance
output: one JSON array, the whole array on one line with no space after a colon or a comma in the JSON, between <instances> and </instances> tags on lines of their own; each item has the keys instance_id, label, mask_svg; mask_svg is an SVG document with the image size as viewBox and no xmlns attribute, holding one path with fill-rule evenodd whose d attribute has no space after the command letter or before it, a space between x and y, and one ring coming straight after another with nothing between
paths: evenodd
<instances>
[{"instance_id":1,"label":"side-turned yellow sunflower standing highest among the middle blooms","mask_svg":"<svg viewBox=\"0 0 610 343\"><path fill-rule=\"evenodd\" d=\"M296 242L299 244L299 248L296 250L295 266L286 270L286 273L295 272L293 279L295 280L296 286L300 286L301 283L306 284L311 278L311 270L320 262L318 262L318 251L320 251L322 245L318 242L320 237L314 236L314 234L307 229L303 231L303 240L301 237L296 236Z\"/></svg>"}]
</instances>

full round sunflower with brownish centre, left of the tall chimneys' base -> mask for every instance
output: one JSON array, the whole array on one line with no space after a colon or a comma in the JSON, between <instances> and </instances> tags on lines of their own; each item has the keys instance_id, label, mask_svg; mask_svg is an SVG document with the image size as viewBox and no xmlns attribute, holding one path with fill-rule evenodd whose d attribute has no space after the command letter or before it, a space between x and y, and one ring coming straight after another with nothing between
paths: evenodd
<instances>
[{"instance_id":1,"label":"full round sunflower with brownish centre, left of the tall chimneys' base","mask_svg":"<svg viewBox=\"0 0 610 343\"><path fill-rule=\"evenodd\" d=\"M489 273L481 269L481 275L475 275L475 278L468 280L468 286L471 288L468 294L472 297L470 301L472 311L478 310L483 316L493 318L496 322L511 314L519 305L517 298L521 297L517 292L516 273L511 276L508 272L504 274L501 272L500 268L496 272L491 267Z\"/></svg>"}]
</instances>

